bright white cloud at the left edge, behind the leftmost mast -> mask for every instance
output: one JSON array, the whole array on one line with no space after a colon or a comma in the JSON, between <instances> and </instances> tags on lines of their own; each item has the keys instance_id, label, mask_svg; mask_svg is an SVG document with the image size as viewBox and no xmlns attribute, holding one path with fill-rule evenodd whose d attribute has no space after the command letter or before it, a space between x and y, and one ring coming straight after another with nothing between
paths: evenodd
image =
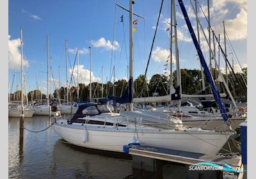
<instances>
[{"instance_id":1,"label":"bright white cloud at the left edge, behind the leftmost mast","mask_svg":"<svg viewBox=\"0 0 256 179\"><path fill-rule=\"evenodd\" d=\"M21 66L21 59L20 59L20 38L17 39L10 39L11 36L8 36L8 47L9 47L9 61L8 67L11 69L19 69ZM23 56L23 66L28 67L29 62Z\"/></svg>"}]
</instances>

